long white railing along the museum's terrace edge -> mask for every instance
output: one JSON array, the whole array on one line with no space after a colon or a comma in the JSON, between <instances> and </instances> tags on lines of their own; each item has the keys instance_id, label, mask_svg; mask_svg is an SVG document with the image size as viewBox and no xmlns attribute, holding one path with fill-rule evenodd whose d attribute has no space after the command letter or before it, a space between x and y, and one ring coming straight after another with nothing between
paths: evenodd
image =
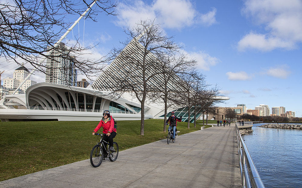
<instances>
[{"instance_id":1,"label":"long white railing along the museum's terrace edge","mask_svg":"<svg viewBox=\"0 0 302 188\"><path fill-rule=\"evenodd\" d=\"M34 107L34 106L20 106L20 105L8 105L8 109L19 109L19 110L58 110L58 111L75 111L75 112L98 112L103 113L104 110L95 109L82 109L82 108L60 108L60 107ZM110 110L110 113L126 113L136 114L128 110Z\"/></svg>"}]
</instances>

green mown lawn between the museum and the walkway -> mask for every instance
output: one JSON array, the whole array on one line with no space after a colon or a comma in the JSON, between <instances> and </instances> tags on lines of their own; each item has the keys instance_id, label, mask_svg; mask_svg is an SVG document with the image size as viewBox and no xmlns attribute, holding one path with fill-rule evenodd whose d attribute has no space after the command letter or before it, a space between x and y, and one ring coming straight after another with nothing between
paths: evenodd
<instances>
[{"instance_id":1,"label":"green mown lawn between the museum and the walkway","mask_svg":"<svg viewBox=\"0 0 302 188\"><path fill-rule=\"evenodd\" d=\"M96 121L0 122L0 181L89 158L97 136ZM178 122L178 135L200 130ZM206 126L210 127L210 126ZM167 127L168 129L168 127ZM145 120L140 136L140 120L117 121L120 151L165 139L162 119ZM98 131L101 133L102 129Z\"/></svg>"}]
</instances>

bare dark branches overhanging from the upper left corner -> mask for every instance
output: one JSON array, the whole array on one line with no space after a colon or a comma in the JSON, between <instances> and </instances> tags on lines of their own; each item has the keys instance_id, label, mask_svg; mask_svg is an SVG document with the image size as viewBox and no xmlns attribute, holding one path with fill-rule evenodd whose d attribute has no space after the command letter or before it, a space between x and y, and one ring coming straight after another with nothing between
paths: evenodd
<instances>
[{"instance_id":1,"label":"bare dark branches overhanging from the upper left corner","mask_svg":"<svg viewBox=\"0 0 302 188\"><path fill-rule=\"evenodd\" d=\"M114 1L114 0L113 0ZM93 9L85 14L86 19L93 21L100 12L115 15L117 2L112 0L98 0ZM78 59L84 51L93 46L83 47L77 38L76 44L67 44L69 48L61 55L54 56L47 53L51 50L60 51L61 45L54 45L67 31L72 23L68 15L81 15L92 4L86 0L74 2L71 0L36 1L13 0L0 2L0 56L8 62L15 61L18 65L28 63L33 69L46 75L45 58L58 62L64 58L73 62L78 71L86 76L95 75L101 67L100 60ZM18 61L21 59L22 62ZM30 66L27 64L27 68ZM60 67L57 69L65 69ZM58 78L60 79L60 78Z\"/></svg>"}]
</instances>

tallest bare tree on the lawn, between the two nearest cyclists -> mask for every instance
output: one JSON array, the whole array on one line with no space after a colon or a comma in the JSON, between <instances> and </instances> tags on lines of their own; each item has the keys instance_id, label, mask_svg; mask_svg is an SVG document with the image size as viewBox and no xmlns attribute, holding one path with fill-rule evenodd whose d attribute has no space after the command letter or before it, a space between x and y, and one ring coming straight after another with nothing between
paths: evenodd
<instances>
[{"instance_id":1,"label":"tallest bare tree on the lawn, between the two nearest cyclists","mask_svg":"<svg viewBox=\"0 0 302 188\"><path fill-rule=\"evenodd\" d=\"M115 83L110 86L111 94L120 96L128 92L137 98L141 104L140 135L144 135L146 99L151 101L156 96L157 90L153 85L160 85L162 79L157 57L171 54L179 47L159 24L154 24L154 20L141 20L132 29L127 28L125 33L129 36L123 43L126 47L112 51L116 72L110 74L110 79Z\"/></svg>"}]
</instances>

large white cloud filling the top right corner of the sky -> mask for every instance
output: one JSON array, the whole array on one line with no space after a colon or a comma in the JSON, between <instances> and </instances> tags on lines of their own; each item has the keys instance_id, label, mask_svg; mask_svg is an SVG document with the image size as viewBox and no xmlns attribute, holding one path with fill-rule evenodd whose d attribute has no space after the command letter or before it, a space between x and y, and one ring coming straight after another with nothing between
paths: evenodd
<instances>
[{"instance_id":1,"label":"large white cloud filling the top right corner of the sky","mask_svg":"<svg viewBox=\"0 0 302 188\"><path fill-rule=\"evenodd\" d=\"M239 50L293 49L302 42L302 1L247 0L242 12L267 33L250 32L239 41Z\"/></svg>"}]
</instances>

